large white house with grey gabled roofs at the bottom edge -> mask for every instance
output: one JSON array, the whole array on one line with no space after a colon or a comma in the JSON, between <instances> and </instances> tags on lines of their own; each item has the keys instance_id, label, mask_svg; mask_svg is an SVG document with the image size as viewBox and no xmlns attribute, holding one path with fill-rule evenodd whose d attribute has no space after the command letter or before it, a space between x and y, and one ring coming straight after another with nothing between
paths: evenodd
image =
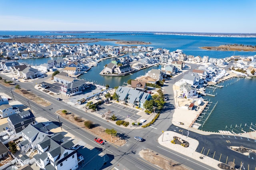
<instances>
[{"instance_id":1,"label":"large white house with grey gabled roofs at the bottom edge","mask_svg":"<svg viewBox=\"0 0 256 170\"><path fill-rule=\"evenodd\" d=\"M45 136L37 145L38 154L34 155L38 167L46 170L76 170L83 157L77 156L76 150L69 149L71 140L60 142L57 136Z\"/></svg>"}]
</instances>

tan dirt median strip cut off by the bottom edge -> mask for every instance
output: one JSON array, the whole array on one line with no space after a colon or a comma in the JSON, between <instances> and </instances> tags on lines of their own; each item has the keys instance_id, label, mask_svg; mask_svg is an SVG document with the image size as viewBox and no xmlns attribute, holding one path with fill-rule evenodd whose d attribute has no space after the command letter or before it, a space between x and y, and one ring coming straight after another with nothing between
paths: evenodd
<instances>
[{"instance_id":1,"label":"tan dirt median strip cut off by the bottom edge","mask_svg":"<svg viewBox=\"0 0 256 170\"><path fill-rule=\"evenodd\" d=\"M181 164L148 149L141 150L139 156L164 170L188 170L188 168L185 168Z\"/></svg>"}]
</instances>

